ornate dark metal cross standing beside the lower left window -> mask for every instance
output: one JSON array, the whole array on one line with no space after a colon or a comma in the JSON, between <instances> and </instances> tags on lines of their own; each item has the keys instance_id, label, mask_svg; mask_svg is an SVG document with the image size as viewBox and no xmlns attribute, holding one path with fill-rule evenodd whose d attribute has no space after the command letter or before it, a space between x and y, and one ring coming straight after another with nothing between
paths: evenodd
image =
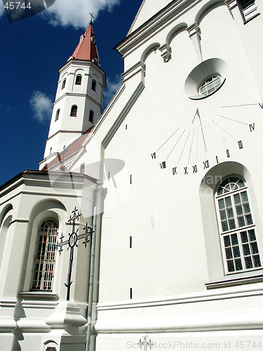
<instances>
[{"instance_id":1,"label":"ornate dark metal cross standing beside the lower left window","mask_svg":"<svg viewBox=\"0 0 263 351\"><path fill-rule=\"evenodd\" d=\"M79 219L79 217L81 216L81 213L79 213L79 210L76 209L76 206L74 208L74 210L72 211L73 215L70 215L69 217L69 223L72 223L72 233L69 233L69 239L63 241L63 239L65 238L65 236L63 234L61 234L60 237L60 243L58 243L56 245L56 248L60 248L58 250L58 252L61 254L63 249L62 246L64 245L68 245L67 250L69 250L70 248L70 254L69 254L69 269L67 271L67 284L65 284L65 286L67 286L67 301L69 301L69 293L70 293L70 286L72 285L71 279L72 279L72 265L73 265L73 254L74 254L74 247L78 247L78 240L80 239L84 239L82 244L85 244L85 247L87 247L87 244L89 241L92 240L92 234L94 232L94 230L92 230L92 227L88 227L88 223L86 223L86 227L83 227L83 230L85 230L85 232L83 232L83 234L79 234L78 235L78 231L79 228L77 228L76 230L76 220ZM90 239L88 238L90 236Z\"/></svg>"}]
</instances>

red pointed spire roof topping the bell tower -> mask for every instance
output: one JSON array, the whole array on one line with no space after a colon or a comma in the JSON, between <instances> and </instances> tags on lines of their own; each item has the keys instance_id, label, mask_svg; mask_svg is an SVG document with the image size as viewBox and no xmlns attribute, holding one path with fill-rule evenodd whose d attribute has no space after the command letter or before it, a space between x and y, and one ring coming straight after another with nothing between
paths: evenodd
<instances>
[{"instance_id":1,"label":"red pointed spire roof topping the bell tower","mask_svg":"<svg viewBox=\"0 0 263 351\"><path fill-rule=\"evenodd\" d=\"M95 63L95 65L100 67L99 55L97 54L97 46L95 44L96 38L93 33L92 21L90 20L90 25L88 26L86 32L81 35L79 39L79 45L76 47L71 58L76 58L77 60L88 60Z\"/></svg>"}]
</instances>

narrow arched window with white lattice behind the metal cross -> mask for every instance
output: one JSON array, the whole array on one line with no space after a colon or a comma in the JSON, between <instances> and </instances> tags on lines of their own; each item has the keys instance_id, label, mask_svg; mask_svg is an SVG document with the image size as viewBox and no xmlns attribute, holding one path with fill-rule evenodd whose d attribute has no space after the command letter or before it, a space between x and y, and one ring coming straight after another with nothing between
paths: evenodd
<instances>
[{"instance_id":1,"label":"narrow arched window with white lattice behind the metal cross","mask_svg":"<svg viewBox=\"0 0 263 351\"><path fill-rule=\"evenodd\" d=\"M58 224L45 220L39 227L32 290L52 291L57 237Z\"/></svg>"}]
</instances>

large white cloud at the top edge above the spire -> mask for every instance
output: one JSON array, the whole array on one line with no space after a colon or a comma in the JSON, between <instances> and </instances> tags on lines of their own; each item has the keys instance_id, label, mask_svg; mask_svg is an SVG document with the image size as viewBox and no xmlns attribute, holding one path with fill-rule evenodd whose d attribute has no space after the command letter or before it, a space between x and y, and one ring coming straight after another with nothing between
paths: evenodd
<instances>
[{"instance_id":1,"label":"large white cloud at the top edge above the spire","mask_svg":"<svg viewBox=\"0 0 263 351\"><path fill-rule=\"evenodd\" d=\"M97 17L100 10L112 11L119 0L56 0L43 15L48 17L50 24L75 28L85 28L90 19L89 13Z\"/></svg>"}]
</instances>

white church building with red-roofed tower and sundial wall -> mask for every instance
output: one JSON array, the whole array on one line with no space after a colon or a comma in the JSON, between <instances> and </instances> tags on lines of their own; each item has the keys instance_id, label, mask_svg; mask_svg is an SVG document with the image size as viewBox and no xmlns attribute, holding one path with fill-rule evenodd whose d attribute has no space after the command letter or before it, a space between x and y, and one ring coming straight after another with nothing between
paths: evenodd
<instances>
[{"instance_id":1,"label":"white church building with red-roofed tower and sundial wall","mask_svg":"<svg viewBox=\"0 0 263 351\"><path fill-rule=\"evenodd\" d=\"M0 187L1 351L263 348L262 14L142 1L104 112L90 23Z\"/></svg>"}]
</instances>

